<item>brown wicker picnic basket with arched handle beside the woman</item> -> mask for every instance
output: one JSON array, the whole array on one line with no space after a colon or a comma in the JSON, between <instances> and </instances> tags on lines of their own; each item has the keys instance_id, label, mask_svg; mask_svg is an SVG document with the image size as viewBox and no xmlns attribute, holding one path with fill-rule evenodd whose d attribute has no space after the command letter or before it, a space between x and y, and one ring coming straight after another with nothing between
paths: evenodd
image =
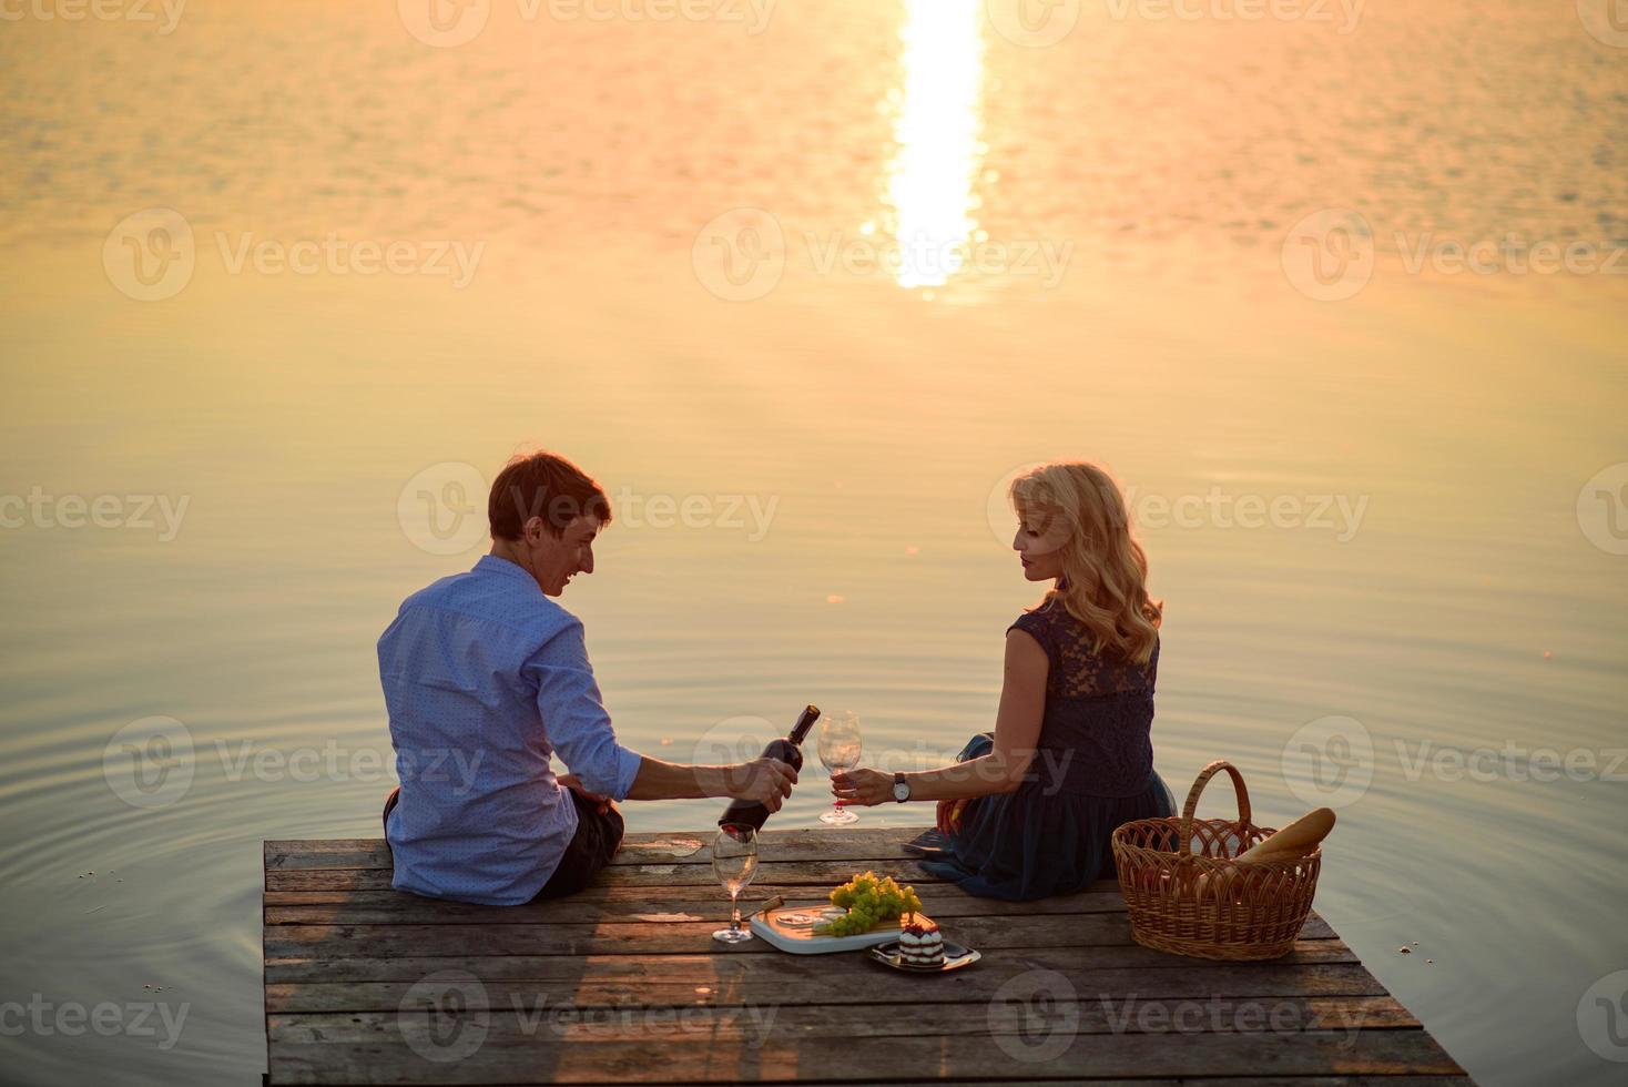
<instances>
[{"instance_id":1,"label":"brown wicker picnic basket with arched handle beside the woman","mask_svg":"<svg viewBox=\"0 0 1628 1087\"><path fill-rule=\"evenodd\" d=\"M1237 819L1193 819L1218 771L1232 776ZM1203 768L1180 819L1138 819L1114 832L1114 862L1131 936L1156 950L1250 962L1289 954L1317 893L1322 849L1237 864L1232 858L1275 833L1249 822L1249 789L1232 763Z\"/></svg>"}]
</instances>

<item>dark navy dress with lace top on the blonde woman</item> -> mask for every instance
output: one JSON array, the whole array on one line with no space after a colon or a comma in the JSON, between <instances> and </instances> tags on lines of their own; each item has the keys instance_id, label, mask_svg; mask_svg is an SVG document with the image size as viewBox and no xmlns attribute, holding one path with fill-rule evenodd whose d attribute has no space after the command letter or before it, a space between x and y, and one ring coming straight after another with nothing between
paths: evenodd
<instances>
[{"instance_id":1,"label":"dark navy dress with lace top on the blonde woman","mask_svg":"<svg viewBox=\"0 0 1628 1087\"><path fill-rule=\"evenodd\" d=\"M1091 631L1052 600L1013 628L1045 649L1045 719L1029 779L967 804L943 859L921 867L970 895L1029 900L1083 890L1114 875L1114 828L1175 814L1153 770L1154 644L1148 664L1097 656ZM985 755L990 732L959 758Z\"/></svg>"}]
</instances>

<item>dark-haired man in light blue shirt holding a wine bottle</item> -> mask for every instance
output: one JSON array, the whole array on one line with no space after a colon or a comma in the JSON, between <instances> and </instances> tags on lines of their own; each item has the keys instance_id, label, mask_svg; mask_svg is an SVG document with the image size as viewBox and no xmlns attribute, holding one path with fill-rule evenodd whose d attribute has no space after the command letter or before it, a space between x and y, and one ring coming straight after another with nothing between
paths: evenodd
<instances>
[{"instance_id":1,"label":"dark-haired man in light blue shirt holding a wine bottle","mask_svg":"<svg viewBox=\"0 0 1628 1087\"><path fill-rule=\"evenodd\" d=\"M487 501L492 553L402 604L379 638L400 786L384 805L392 887L518 905L586 887L622 843L612 801L733 797L778 810L796 771L666 763L622 747L583 623L555 604L594 571L604 491L570 461L510 461ZM555 776L550 755L570 773Z\"/></svg>"}]
</instances>

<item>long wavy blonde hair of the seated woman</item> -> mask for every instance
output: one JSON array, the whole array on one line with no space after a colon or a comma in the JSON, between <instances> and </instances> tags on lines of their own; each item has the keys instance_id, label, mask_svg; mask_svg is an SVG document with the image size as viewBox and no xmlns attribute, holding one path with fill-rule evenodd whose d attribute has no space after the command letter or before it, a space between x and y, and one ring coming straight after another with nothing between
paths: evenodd
<instances>
[{"instance_id":1,"label":"long wavy blonde hair of the seated woman","mask_svg":"<svg viewBox=\"0 0 1628 1087\"><path fill-rule=\"evenodd\" d=\"M1009 496L1026 527L1068 534L1058 548L1063 576L1037 607L1061 604L1091 631L1096 653L1146 664L1164 600L1148 596L1148 555L1114 478L1083 461L1045 464L1014 478Z\"/></svg>"}]
</instances>

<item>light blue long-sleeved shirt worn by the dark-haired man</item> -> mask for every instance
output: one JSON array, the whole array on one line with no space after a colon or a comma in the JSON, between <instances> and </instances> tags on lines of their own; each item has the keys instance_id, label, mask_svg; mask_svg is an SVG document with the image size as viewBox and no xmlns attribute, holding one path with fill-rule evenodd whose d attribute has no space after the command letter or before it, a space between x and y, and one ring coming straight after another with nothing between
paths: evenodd
<instances>
[{"instance_id":1,"label":"light blue long-sleeved shirt worn by the dark-haired man","mask_svg":"<svg viewBox=\"0 0 1628 1087\"><path fill-rule=\"evenodd\" d=\"M589 792L622 801L640 757L599 698L583 623L514 563L485 555L402 602L379 638L400 802L392 887L529 901L576 833L560 753Z\"/></svg>"}]
</instances>

